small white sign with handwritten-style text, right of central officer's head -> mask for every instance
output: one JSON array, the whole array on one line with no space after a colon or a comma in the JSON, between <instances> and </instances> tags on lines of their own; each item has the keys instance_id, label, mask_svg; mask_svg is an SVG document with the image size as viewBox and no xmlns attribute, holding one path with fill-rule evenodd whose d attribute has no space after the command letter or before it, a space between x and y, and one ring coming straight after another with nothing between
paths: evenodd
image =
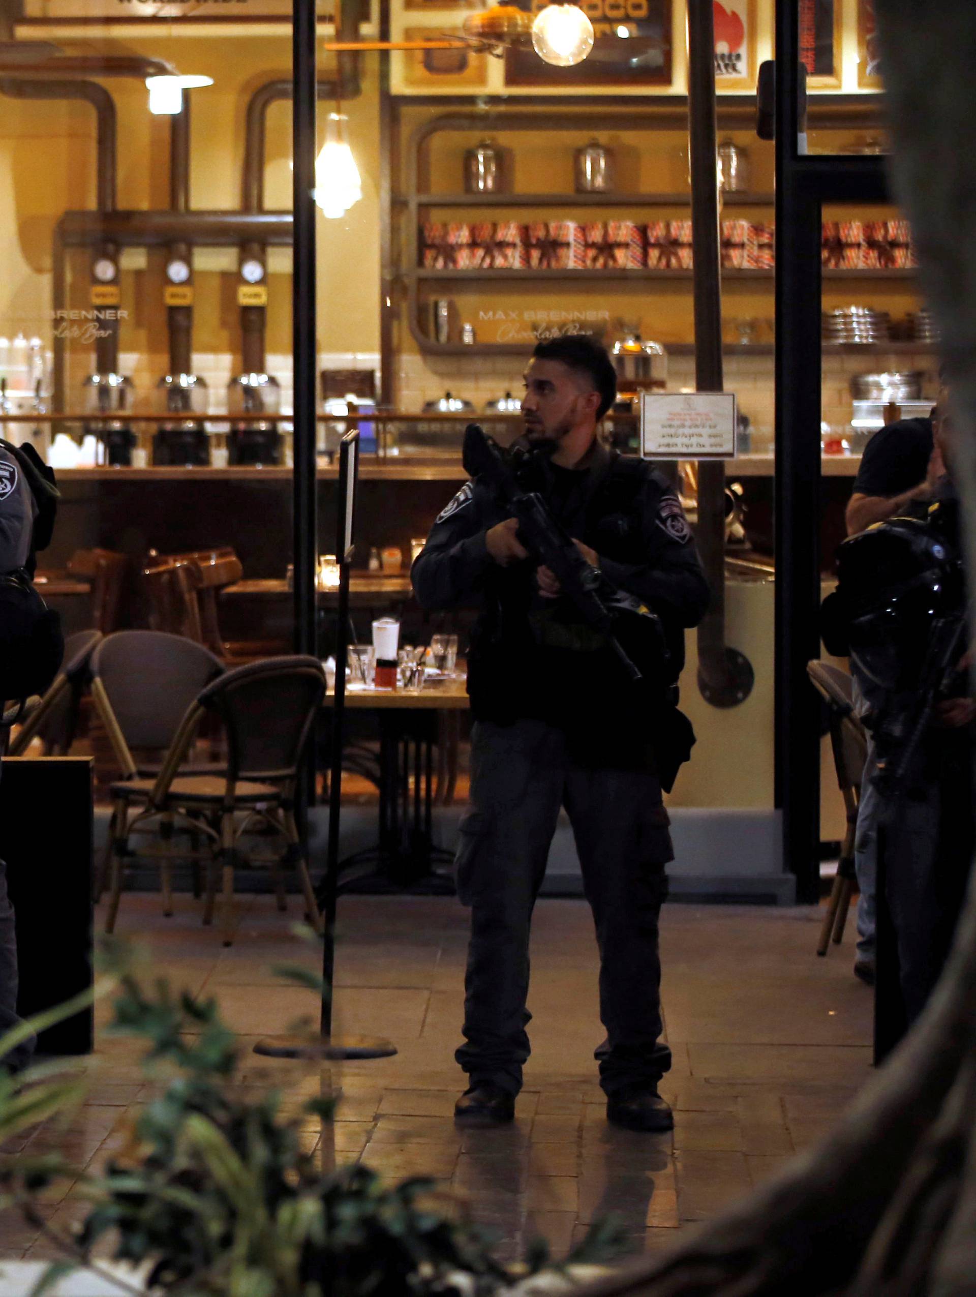
<instances>
[{"instance_id":1,"label":"small white sign with handwritten-style text, right of central officer's head","mask_svg":"<svg viewBox=\"0 0 976 1297\"><path fill-rule=\"evenodd\" d=\"M735 393L642 392L644 459L735 459Z\"/></svg>"}]
</instances>

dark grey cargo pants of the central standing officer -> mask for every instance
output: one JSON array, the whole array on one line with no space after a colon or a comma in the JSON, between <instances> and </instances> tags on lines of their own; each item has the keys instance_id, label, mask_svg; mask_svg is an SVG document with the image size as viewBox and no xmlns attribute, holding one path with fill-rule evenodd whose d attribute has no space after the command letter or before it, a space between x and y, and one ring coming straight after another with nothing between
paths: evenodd
<instances>
[{"instance_id":1,"label":"dark grey cargo pants of the central standing officer","mask_svg":"<svg viewBox=\"0 0 976 1297\"><path fill-rule=\"evenodd\" d=\"M671 1065L661 1034L657 920L674 859L661 787L648 770L574 763L543 721L478 722L471 807L461 820L458 895L469 905L464 1036L455 1058L473 1084L517 1093L529 1057L529 925L560 807L573 826L600 951L600 1084L655 1086ZM573 1012L573 1005L566 1005Z\"/></svg>"}]
</instances>

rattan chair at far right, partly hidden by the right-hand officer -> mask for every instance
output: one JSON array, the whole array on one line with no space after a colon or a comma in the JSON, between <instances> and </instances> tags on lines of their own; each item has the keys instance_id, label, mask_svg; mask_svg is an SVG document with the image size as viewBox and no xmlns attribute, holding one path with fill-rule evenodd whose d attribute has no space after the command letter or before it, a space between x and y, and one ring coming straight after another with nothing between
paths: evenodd
<instances>
[{"instance_id":1,"label":"rattan chair at far right, partly hidden by the right-hand officer","mask_svg":"<svg viewBox=\"0 0 976 1297\"><path fill-rule=\"evenodd\" d=\"M857 837L857 808L861 800L861 779L867 759L867 735L854 715L854 682L839 667L826 661L809 661L806 672L818 694L827 703L830 715L831 748L837 772L837 785L848 815L844 842L837 860L837 873L831 888L831 899L823 918L817 953L826 955L831 936L839 946L848 921L850 898L857 885L854 872L854 840Z\"/></svg>"}]
</instances>

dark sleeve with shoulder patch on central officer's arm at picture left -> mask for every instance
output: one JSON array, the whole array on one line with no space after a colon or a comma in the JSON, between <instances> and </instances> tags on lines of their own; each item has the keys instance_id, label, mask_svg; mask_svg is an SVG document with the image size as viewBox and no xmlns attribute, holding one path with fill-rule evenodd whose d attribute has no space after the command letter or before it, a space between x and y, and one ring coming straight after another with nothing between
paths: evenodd
<instances>
[{"instance_id":1,"label":"dark sleeve with shoulder patch on central officer's arm at picture left","mask_svg":"<svg viewBox=\"0 0 976 1297\"><path fill-rule=\"evenodd\" d=\"M438 516L410 571L421 608L433 612L477 599L493 567L485 546L493 521L498 519L487 516L477 482L465 482Z\"/></svg>"}]
</instances>

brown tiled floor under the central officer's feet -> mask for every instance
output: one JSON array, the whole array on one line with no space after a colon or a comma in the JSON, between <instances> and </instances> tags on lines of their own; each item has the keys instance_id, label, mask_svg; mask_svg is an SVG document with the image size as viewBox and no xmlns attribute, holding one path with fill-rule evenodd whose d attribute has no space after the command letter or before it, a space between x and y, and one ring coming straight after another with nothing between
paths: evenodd
<instances>
[{"instance_id":1,"label":"brown tiled floor under the central officer's feet","mask_svg":"<svg viewBox=\"0 0 976 1297\"><path fill-rule=\"evenodd\" d=\"M586 904L540 901L533 1057L517 1119L507 1128L461 1131L451 1112L463 1088L452 1052L465 912L450 899L343 898L336 1030L386 1035L399 1053L343 1065L334 1158L363 1157L390 1176L434 1176L496 1231L509 1258L537 1233L564 1253L608 1211L622 1218L635 1248L668 1245L817 1140L868 1075L871 994L852 975L850 936L826 960L815 957L818 922L819 913L808 909L665 909L664 1008L674 1067L661 1091L675 1108L675 1130L642 1136L604 1119L592 1061L601 1030ZM276 983L268 971L315 955L289 938L288 921L267 896L241 898L229 949L201 929L189 898L178 898L176 914L163 920L157 898L126 896L119 930L137 935L175 984L218 996L245 1044L315 1012L308 992ZM245 1079L284 1080L296 1093L320 1084L308 1065L270 1071L250 1054ZM100 1035L88 1102L65 1132L41 1128L34 1141L97 1165L124 1137L145 1095L131 1043ZM319 1137L310 1128L310 1141ZM70 1187L45 1204L54 1226L69 1224L80 1209ZM35 1230L0 1218L0 1257L48 1249Z\"/></svg>"}]
</instances>

